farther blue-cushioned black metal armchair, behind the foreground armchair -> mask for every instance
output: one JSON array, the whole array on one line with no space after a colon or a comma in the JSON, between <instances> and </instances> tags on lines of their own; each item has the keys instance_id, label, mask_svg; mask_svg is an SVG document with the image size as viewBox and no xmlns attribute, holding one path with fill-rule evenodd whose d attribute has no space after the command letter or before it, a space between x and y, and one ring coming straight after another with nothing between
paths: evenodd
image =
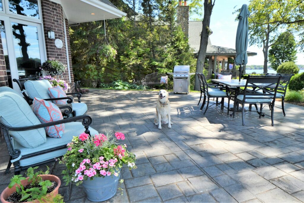
<instances>
[{"instance_id":1,"label":"farther blue-cushioned black metal armchair, behind the foreground armchair","mask_svg":"<svg viewBox=\"0 0 304 203\"><path fill-rule=\"evenodd\" d=\"M37 78L26 78L26 79L13 79L16 82L23 94L24 98L29 104L32 104L35 97L41 98L46 101L54 100L67 100L67 104L72 106L73 116L81 116L88 112L88 107L85 103L81 103L81 93L66 93L67 97L51 98L49 95L48 88L53 86L48 80L37 80ZM77 96L78 103L74 103L74 96Z\"/></svg>"}]
</instances>

